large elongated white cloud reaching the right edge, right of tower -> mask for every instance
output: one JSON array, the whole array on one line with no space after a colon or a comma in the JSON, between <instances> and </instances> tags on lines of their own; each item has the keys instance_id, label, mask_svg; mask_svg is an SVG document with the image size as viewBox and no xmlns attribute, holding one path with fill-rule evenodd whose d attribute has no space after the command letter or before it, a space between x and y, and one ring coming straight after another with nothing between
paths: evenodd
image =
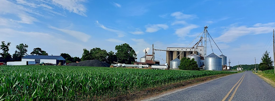
<instances>
[{"instance_id":1,"label":"large elongated white cloud reaching the right edge, right of tower","mask_svg":"<svg viewBox=\"0 0 275 101\"><path fill-rule=\"evenodd\" d=\"M229 26L223 32L221 36L215 38L215 40L219 42L233 42L237 40L237 38L245 35L251 34L264 34L264 33L271 33L275 25L274 22L266 23L266 24L255 24L254 27L247 27L247 26ZM255 27L258 26L258 27Z\"/></svg>"}]
</instances>

